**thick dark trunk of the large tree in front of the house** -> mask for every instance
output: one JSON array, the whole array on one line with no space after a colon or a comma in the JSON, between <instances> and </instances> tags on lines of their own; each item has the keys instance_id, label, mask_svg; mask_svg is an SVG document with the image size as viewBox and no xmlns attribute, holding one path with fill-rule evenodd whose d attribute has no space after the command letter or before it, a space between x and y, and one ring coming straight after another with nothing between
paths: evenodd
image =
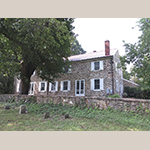
<instances>
[{"instance_id":1,"label":"thick dark trunk of the large tree in front of the house","mask_svg":"<svg viewBox=\"0 0 150 150\"><path fill-rule=\"evenodd\" d=\"M31 63L21 64L21 84L20 84L20 94L28 94L30 88L30 77L33 74L35 67Z\"/></svg>"}]
</instances>

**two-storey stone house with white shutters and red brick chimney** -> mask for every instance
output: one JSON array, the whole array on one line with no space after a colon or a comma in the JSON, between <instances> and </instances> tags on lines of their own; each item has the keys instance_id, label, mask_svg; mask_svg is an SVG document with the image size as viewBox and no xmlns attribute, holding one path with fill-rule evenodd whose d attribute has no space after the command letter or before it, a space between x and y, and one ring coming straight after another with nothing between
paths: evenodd
<instances>
[{"instance_id":1,"label":"two-storey stone house with white shutters and red brick chimney","mask_svg":"<svg viewBox=\"0 0 150 150\"><path fill-rule=\"evenodd\" d=\"M105 41L105 50L69 57L71 66L67 73L54 79L53 83L42 81L35 71L31 77L29 94L80 97L105 97L119 94L122 96L123 73L122 68L117 68L117 64L120 63L119 52L117 49L110 49L109 43L108 40Z\"/></svg>"}]
</instances>

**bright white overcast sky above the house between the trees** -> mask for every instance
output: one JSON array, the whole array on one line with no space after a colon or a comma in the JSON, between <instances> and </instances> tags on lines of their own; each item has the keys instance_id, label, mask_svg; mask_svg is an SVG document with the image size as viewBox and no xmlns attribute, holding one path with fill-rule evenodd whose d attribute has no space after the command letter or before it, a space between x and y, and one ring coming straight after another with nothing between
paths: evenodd
<instances>
[{"instance_id":1,"label":"bright white overcast sky above the house between the trees","mask_svg":"<svg viewBox=\"0 0 150 150\"><path fill-rule=\"evenodd\" d=\"M141 32L137 26L139 18L76 18L73 26L77 40L86 52L104 50L105 40L110 41L110 49L117 48L125 54L123 40L135 43ZM134 27L134 29L132 29Z\"/></svg>"}]
</instances>

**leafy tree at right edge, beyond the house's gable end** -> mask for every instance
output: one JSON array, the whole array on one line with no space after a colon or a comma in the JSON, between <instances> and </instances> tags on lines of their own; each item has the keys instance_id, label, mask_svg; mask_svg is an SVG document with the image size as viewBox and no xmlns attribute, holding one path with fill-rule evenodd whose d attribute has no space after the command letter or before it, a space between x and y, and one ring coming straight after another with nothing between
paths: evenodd
<instances>
[{"instance_id":1,"label":"leafy tree at right edge, beyond the house's gable end","mask_svg":"<svg viewBox=\"0 0 150 150\"><path fill-rule=\"evenodd\" d=\"M150 19L142 18L138 22L141 36L135 44L125 43L124 60L134 65L134 72L143 89L150 89Z\"/></svg>"}]
</instances>

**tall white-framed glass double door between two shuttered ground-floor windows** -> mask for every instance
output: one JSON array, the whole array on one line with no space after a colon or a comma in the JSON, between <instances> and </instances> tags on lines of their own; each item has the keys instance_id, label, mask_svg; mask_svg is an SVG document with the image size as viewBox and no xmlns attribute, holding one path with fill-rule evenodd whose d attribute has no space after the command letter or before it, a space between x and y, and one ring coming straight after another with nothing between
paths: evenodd
<instances>
[{"instance_id":1,"label":"tall white-framed glass double door between two shuttered ground-floor windows","mask_svg":"<svg viewBox=\"0 0 150 150\"><path fill-rule=\"evenodd\" d=\"M85 81L84 80L76 80L75 81L75 95L76 96L84 96L85 93Z\"/></svg>"}]
</instances>

